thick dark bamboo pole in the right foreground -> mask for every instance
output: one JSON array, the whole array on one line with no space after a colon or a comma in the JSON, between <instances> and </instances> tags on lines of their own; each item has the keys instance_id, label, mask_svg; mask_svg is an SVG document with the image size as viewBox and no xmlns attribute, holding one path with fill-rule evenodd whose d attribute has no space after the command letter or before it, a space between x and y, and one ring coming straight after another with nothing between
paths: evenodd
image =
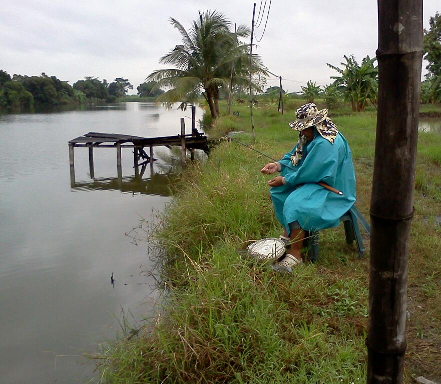
<instances>
[{"instance_id":1,"label":"thick dark bamboo pole in the right foreground","mask_svg":"<svg viewBox=\"0 0 441 384\"><path fill-rule=\"evenodd\" d=\"M402 382L422 36L422 0L378 0L379 84L370 204L368 384Z\"/></svg>"}]
</instances>

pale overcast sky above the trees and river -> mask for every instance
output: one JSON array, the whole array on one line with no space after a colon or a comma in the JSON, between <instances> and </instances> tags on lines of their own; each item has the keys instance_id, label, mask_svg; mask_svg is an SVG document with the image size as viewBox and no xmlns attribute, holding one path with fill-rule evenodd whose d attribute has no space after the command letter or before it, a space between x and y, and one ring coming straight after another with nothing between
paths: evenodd
<instances>
[{"instance_id":1,"label":"pale overcast sky above the trees and river","mask_svg":"<svg viewBox=\"0 0 441 384\"><path fill-rule=\"evenodd\" d=\"M263 1L265 2L265 1ZM261 25L265 25L268 4ZM129 78L135 86L154 69L159 58L180 42L169 22L186 28L198 10L217 9L233 23L251 25L253 0L13 0L0 12L0 69L39 75L46 72L72 85L85 76L109 82ZM256 18L260 1L256 1ZM440 0L424 0L423 22L441 11ZM254 52L276 74L289 79L283 87L300 90L309 79L330 82L343 54L357 59L375 55L375 0L272 0L265 34ZM425 66L426 63L423 63ZM425 70L423 69L423 72ZM275 85L278 79L269 79Z\"/></svg>"}]
</instances>

